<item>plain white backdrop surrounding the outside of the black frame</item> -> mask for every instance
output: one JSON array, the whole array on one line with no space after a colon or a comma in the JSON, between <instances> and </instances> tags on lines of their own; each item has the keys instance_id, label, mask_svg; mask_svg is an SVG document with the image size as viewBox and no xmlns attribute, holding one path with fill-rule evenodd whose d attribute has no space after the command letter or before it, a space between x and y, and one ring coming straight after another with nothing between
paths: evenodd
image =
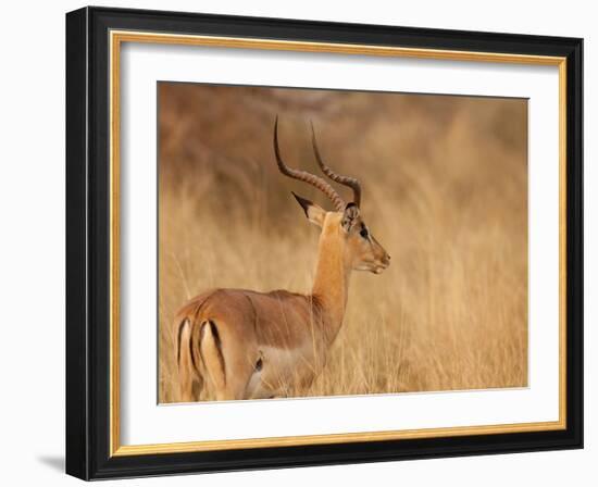
<instances>
[{"instance_id":1,"label":"plain white backdrop surrounding the outside of the black frame","mask_svg":"<svg viewBox=\"0 0 598 487\"><path fill-rule=\"evenodd\" d=\"M598 172L593 167L598 130L596 12L590 2L322 2L110 1L97 4L203 11L395 25L585 37L586 212L586 449L584 451L440 459L416 462L282 470L128 480L120 485L595 485L598 435L590 389L597 361ZM64 12L83 3L12 2L3 5L0 78L0 208L3 333L0 449L2 483L61 485L64 450ZM590 188L594 188L591 193ZM594 220L594 222L590 222ZM593 302L594 301L594 302ZM595 380L594 380L595 382ZM112 483L108 483L110 485Z\"/></svg>"}]
</instances>

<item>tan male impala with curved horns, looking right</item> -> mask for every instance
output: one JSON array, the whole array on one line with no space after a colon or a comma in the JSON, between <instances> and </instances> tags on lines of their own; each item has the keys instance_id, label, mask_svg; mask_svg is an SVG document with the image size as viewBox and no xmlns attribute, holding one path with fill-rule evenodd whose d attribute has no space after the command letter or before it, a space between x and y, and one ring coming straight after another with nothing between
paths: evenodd
<instances>
[{"instance_id":1,"label":"tan male impala with curved horns, looking right","mask_svg":"<svg viewBox=\"0 0 598 487\"><path fill-rule=\"evenodd\" d=\"M322 229L312 292L214 289L185 304L174 321L182 401L199 399L202 390L216 400L231 400L287 396L308 387L324 367L342 325L351 271L379 274L389 265L390 257L360 215L359 182L334 173L322 161L313 127L322 172L352 188L353 201L346 204L322 177L288 167L277 128L276 120L274 154L281 173L315 186L334 205L334 211L325 211L292 193L308 220Z\"/></svg>"}]
</instances>

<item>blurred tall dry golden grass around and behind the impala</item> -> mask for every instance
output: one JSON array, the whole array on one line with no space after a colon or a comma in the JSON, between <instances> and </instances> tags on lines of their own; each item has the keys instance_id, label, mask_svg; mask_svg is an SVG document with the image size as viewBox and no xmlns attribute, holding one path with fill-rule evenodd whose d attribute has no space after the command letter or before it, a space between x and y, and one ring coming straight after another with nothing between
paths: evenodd
<instances>
[{"instance_id":1,"label":"blurred tall dry golden grass around and behind the impala","mask_svg":"<svg viewBox=\"0 0 598 487\"><path fill-rule=\"evenodd\" d=\"M180 84L159 95L161 402L177 399L170 322L188 298L310 291L317 230L290 190L326 201L277 173L276 113L285 159L315 172L313 120L328 163L361 179L362 214L393 255L382 275L353 273L328 363L301 395L527 384L524 100Z\"/></svg>"}]
</instances>

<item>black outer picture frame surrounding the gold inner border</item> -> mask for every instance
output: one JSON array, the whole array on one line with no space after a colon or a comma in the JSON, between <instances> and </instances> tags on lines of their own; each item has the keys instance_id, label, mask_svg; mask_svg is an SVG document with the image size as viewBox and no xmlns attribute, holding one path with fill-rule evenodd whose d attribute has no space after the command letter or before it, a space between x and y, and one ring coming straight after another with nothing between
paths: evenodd
<instances>
[{"instance_id":1,"label":"black outer picture frame surrounding the gold inner border","mask_svg":"<svg viewBox=\"0 0 598 487\"><path fill-rule=\"evenodd\" d=\"M566 428L111 457L111 29L566 58ZM577 38L107 8L66 14L66 473L100 479L583 448L582 61Z\"/></svg>"}]
</instances>

